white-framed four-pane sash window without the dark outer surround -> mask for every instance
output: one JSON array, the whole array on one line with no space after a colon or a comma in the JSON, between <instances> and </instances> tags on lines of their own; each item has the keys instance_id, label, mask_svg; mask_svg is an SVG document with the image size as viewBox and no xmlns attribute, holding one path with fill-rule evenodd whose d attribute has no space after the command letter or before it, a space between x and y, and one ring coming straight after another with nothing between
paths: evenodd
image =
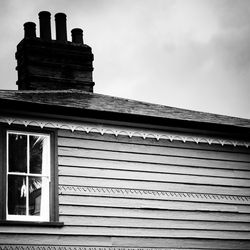
<instances>
[{"instance_id":1,"label":"white-framed four-pane sash window without the dark outer surround","mask_svg":"<svg viewBox=\"0 0 250 250\"><path fill-rule=\"evenodd\" d=\"M50 136L7 132L6 218L49 221Z\"/></svg>"}]
</instances>

